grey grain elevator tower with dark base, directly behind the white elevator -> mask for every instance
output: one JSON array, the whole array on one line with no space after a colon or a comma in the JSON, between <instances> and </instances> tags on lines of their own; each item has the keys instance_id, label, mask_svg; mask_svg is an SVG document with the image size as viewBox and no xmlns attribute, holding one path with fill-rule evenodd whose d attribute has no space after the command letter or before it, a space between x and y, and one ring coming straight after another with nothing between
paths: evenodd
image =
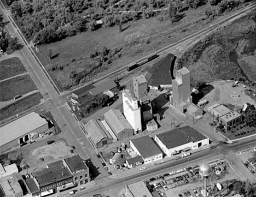
<instances>
[{"instance_id":1,"label":"grey grain elevator tower with dark base, directly behind the white elevator","mask_svg":"<svg viewBox=\"0 0 256 197\"><path fill-rule=\"evenodd\" d=\"M133 95L141 107L142 123L152 120L152 105L148 91L148 83L143 75L133 77Z\"/></svg>"}]
</instances>

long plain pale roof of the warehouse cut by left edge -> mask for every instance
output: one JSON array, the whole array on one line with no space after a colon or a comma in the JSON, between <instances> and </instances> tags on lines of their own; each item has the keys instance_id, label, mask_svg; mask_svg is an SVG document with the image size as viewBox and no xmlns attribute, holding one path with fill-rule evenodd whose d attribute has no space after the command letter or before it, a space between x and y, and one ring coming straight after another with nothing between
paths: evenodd
<instances>
[{"instance_id":1,"label":"long plain pale roof of the warehouse cut by left edge","mask_svg":"<svg viewBox=\"0 0 256 197\"><path fill-rule=\"evenodd\" d=\"M19 118L0 128L0 146L7 144L33 130L48 124L47 121L40 117L36 112Z\"/></svg>"}]
</instances>

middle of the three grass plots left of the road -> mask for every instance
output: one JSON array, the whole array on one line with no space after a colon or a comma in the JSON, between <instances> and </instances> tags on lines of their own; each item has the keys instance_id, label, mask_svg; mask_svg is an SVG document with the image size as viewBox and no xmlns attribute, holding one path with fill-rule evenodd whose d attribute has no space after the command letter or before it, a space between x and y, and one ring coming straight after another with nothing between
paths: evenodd
<instances>
[{"instance_id":1,"label":"middle of the three grass plots left of the road","mask_svg":"<svg viewBox=\"0 0 256 197\"><path fill-rule=\"evenodd\" d=\"M26 94L37 89L28 74L0 82L0 88L0 102L11 100L16 95Z\"/></svg>"}]
</instances>

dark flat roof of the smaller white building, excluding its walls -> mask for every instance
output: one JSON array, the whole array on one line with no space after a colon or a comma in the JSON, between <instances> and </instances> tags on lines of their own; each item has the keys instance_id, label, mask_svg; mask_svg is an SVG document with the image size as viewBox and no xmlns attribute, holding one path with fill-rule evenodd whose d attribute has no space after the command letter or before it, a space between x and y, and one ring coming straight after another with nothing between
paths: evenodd
<instances>
[{"instance_id":1,"label":"dark flat roof of the smaller white building, excluding its walls","mask_svg":"<svg viewBox=\"0 0 256 197\"><path fill-rule=\"evenodd\" d=\"M162 154L159 147L148 135L130 141L137 148L143 159Z\"/></svg>"}]
</instances>

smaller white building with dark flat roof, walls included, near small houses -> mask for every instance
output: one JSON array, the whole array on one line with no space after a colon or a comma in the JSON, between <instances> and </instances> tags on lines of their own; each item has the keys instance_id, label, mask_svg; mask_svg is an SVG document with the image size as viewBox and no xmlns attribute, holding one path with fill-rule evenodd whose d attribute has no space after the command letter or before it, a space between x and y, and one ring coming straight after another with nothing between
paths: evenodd
<instances>
[{"instance_id":1,"label":"smaller white building with dark flat roof, walls included, near small houses","mask_svg":"<svg viewBox=\"0 0 256 197\"><path fill-rule=\"evenodd\" d=\"M162 151L148 135L130 140L130 146L143 158L144 164L162 159Z\"/></svg>"}]
</instances>

